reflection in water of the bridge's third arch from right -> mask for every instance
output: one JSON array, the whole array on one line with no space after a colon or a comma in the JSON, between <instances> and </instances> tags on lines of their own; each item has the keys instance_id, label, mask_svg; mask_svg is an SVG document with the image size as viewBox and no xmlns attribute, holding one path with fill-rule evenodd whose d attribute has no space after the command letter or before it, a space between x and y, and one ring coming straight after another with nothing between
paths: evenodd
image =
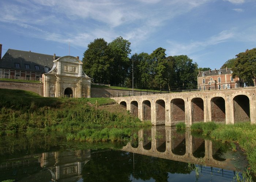
<instances>
[{"instance_id":1,"label":"reflection in water of the bridge's third arch from right","mask_svg":"<svg viewBox=\"0 0 256 182\"><path fill-rule=\"evenodd\" d=\"M203 158L205 156L205 142L202 138L192 138L192 154L196 158Z\"/></svg>"}]
</instances>

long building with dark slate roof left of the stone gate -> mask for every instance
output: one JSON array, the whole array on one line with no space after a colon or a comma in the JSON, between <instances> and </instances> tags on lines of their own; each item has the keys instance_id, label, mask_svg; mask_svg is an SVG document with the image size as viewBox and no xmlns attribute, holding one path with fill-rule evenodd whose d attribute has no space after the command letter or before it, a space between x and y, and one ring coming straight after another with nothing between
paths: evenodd
<instances>
[{"instance_id":1,"label":"long building with dark slate roof left of the stone gate","mask_svg":"<svg viewBox=\"0 0 256 182\"><path fill-rule=\"evenodd\" d=\"M53 60L57 58L60 57L8 49L0 60L0 78L41 80L42 74L52 69Z\"/></svg>"}]
</instances>

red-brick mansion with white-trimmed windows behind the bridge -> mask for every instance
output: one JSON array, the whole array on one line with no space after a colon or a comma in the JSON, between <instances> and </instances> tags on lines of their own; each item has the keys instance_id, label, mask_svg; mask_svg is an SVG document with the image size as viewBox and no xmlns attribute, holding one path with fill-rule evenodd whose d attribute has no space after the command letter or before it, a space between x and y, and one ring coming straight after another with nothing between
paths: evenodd
<instances>
[{"instance_id":1,"label":"red-brick mansion with white-trimmed windows behind the bridge","mask_svg":"<svg viewBox=\"0 0 256 182\"><path fill-rule=\"evenodd\" d=\"M199 71L197 87L199 90L230 89L239 86L239 78L232 77L231 68Z\"/></svg>"}]
</instances>

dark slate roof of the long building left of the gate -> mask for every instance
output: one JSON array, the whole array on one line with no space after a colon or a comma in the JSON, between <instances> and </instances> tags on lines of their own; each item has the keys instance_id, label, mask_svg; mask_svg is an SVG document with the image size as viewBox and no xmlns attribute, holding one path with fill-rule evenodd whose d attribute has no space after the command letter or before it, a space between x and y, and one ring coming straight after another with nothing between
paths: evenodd
<instances>
[{"instance_id":1,"label":"dark slate roof of the long building left of the gate","mask_svg":"<svg viewBox=\"0 0 256 182\"><path fill-rule=\"evenodd\" d=\"M58 58L60 57L55 57L55 59ZM19 68L16 67L15 63L19 64ZM29 65L29 69L26 68L26 64ZM39 70L37 70L35 66L39 66ZM52 69L53 55L8 49L0 61L0 68L7 68L13 70L45 73L45 66L49 68L49 71Z\"/></svg>"}]
</instances>

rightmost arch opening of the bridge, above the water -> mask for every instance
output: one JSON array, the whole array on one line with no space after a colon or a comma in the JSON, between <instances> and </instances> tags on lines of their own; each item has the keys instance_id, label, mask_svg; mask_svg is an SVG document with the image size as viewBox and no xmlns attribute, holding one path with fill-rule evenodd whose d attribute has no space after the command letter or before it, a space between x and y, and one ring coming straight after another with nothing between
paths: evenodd
<instances>
[{"instance_id":1,"label":"rightmost arch opening of the bridge, above the water","mask_svg":"<svg viewBox=\"0 0 256 182\"><path fill-rule=\"evenodd\" d=\"M234 123L250 122L250 101L246 95L237 95L233 99Z\"/></svg>"}]
</instances>

